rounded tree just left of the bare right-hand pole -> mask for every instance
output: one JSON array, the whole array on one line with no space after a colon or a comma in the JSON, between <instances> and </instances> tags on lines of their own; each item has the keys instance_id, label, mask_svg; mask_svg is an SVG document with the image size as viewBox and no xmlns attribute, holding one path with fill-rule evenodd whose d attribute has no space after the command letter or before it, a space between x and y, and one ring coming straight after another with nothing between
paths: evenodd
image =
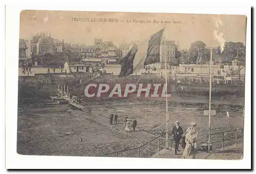
<instances>
[{"instance_id":1,"label":"rounded tree just left of the bare right-hand pole","mask_svg":"<svg viewBox=\"0 0 256 174\"><path fill-rule=\"evenodd\" d=\"M207 49L206 49L206 44L199 40L195 41L190 45L189 48L189 61L190 63L197 63L197 59L200 58L202 54L201 61L205 61L209 59Z\"/></svg>"}]
</instances>

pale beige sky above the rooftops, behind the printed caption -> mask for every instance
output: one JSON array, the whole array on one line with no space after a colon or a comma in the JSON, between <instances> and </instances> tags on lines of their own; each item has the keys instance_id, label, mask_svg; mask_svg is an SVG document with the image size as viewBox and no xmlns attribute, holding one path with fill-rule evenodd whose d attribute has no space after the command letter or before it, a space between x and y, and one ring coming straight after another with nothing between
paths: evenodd
<instances>
[{"instance_id":1,"label":"pale beige sky above the rooftops, behind the printed caption","mask_svg":"<svg viewBox=\"0 0 256 174\"><path fill-rule=\"evenodd\" d=\"M31 18L36 17L36 20ZM72 21L72 17L116 18L118 23ZM152 20L152 23L133 23L136 20ZM74 19L73 19L74 20ZM131 23L127 23L131 20ZM153 20L171 21L170 24L153 24ZM178 21L180 24L174 24ZM223 45L224 41L245 43L246 17L242 15L123 13L123 12L76 12L33 11L20 13L19 38L30 39L36 32L51 32L51 36L65 42L93 45L94 38L113 41L119 46L126 42L151 36L165 27L166 39L179 41L181 49L188 49L191 42L202 40L207 47ZM212 38L212 39L211 39Z\"/></svg>"}]
</instances>

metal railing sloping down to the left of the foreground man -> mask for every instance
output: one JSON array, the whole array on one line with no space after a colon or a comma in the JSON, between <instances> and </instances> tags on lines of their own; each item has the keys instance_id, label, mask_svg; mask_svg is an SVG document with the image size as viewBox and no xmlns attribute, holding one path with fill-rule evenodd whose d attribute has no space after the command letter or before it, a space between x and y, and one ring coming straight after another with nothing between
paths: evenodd
<instances>
[{"instance_id":1,"label":"metal railing sloping down to the left of the foreground man","mask_svg":"<svg viewBox=\"0 0 256 174\"><path fill-rule=\"evenodd\" d=\"M110 155L115 155L115 157L118 157L118 155L122 154L122 153L125 152L125 151L137 150L137 152L138 152L138 153L137 153L137 157L138 157L138 158L142 158L142 157L148 157L148 158L150 158L150 157L151 157L151 152L152 152L153 150L156 150L156 149L157 149L158 154L159 154L161 145L162 145L163 143L166 143L166 140L163 141L162 143L160 143L160 137L163 136L163 135L165 135L165 134L166 134L166 133L163 133L163 134L157 136L156 138L154 138L153 140L151 140L151 141L149 141L149 142L146 142L145 144L143 144L143 145L141 145L141 146L139 146L139 147L129 148L129 149L120 150L120 151L115 151L115 152L113 152L113 153L101 155L101 157L110 156ZM157 146L154 147L154 148L152 148L152 145L155 144L155 143L153 143L153 141L156 140L156 139L157 139ZM142 147L146 147L146 146L148 146L148 150L146 150L146 153L141 154L141 148L142 148ZM162 148L163 148L163 147L162 147Z\"/></svg>"}]
</instances>

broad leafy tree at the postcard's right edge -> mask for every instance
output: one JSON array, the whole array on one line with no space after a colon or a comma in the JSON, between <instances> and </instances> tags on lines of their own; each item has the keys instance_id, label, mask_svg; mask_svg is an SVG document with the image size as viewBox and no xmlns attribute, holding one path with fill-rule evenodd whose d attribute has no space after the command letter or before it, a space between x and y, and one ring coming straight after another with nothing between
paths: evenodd
<instances>
[{"instance_id":1,"label":"broad leafy tree at the postcard's right edge","mask_svg":"<svg viewBox=\"0 0 256 174\"><path fill-rule=\"evenodd\" d=\"M230 63L237 56L239 61L245 62L245 45L243 42L225 42L223 56L227 63Z\"/></svg>"}]
</instances>

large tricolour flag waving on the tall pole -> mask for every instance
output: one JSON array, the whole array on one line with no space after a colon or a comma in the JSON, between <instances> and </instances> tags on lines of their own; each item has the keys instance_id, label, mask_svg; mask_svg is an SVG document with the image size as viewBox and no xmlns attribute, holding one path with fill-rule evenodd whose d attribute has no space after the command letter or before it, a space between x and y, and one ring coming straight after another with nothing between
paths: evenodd
<instances>
[{"instance_id":1,"label":"large tricolour flag waving on the tall pole","mask_svg":"<svg viewBox=\"0 0 256 174\"><path fill-rule=\"evenodd\" d=\"M160 46L164 29L150 38L140 40L127 55L121 59L119 77L137 73L143 65L160 62Z\"/></svg>"}]
</instances>

